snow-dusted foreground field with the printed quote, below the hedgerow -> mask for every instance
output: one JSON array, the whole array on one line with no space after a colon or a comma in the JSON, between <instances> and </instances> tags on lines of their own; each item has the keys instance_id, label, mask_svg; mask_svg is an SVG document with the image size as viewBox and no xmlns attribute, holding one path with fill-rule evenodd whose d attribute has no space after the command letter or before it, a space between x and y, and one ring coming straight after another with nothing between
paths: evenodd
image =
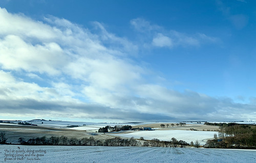
<instances>
[{"instance_id":1,"label":"snow-dusted foreground field with the printed quote, below the hedgerow","mask_svg":"<svg viewBox=\"0 0 256 163\"><path fill-rule=\"evenodd\" d=\"M7 151L8 152L7 152ZM31 156L34 150L35 156ZM12 152L13 151L13 152ZM20 152L19 152L20 151ZM25 151L25 153L23 153ZM11 155L21 154L13 159ZM22 157L22 154L30 156ZM40 156L36 156L41 154ZM28 159L33 160L28 160ZM0 162L255 162L255 150L164 147L0 145Z\"/></svg>"}]
</instances>

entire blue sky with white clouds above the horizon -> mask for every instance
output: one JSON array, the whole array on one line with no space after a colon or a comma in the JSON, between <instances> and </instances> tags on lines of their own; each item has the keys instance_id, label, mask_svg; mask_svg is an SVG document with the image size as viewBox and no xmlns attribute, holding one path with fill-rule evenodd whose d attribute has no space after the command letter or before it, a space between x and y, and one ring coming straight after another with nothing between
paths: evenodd
<instances>
[{"instance_id":1,"label":"entire blue sky with white clouds above the horizon","mask_svg":"<svg viewBox=\"0 0 256 163\"><path fill-rule=\"evenodd\" d=\"M0 1L0 119L256 121L256 1Z\"/></svg>"}]
</instances>

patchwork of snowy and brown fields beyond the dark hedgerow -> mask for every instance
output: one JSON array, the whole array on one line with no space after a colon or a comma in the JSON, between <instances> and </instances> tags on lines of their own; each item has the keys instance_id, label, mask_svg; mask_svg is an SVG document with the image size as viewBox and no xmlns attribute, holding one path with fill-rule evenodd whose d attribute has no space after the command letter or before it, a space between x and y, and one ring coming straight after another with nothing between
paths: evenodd
<instances>
[{"instance_id":1,"label":"patchwork of snowy and brown fields beyond the dark hedgerow","mask_svg":"<svg viewBox=\"0 0 256 163\"><path fill-rule=\"evenodd\" d=\"M30 125L17 125L13 123L0 123L0 132L6 133L6 138L8 138L7 143L17 143L18 139L24 138L28 141L31 138L40 138L46 136L50 137L60 137L65 135L66 137L82 139L94 137L95 140L104 141L106 139L121 137L124 139L130 139L134 137L135 139L144 140L159 139L160 141L170 141L172 138L176 138L178 141L182 140L190 144L191 141L194 143L199 141L200 145L204 145L207 140L214 139L214 134L218 135L218 126L209 126L197 123L187 123L183 126L169 126L165 128L160 128L161 122L147 122L147 123L91 123L91 122L66 122L66 121L40 121L31 120L27 121ZM43 122L43 123L42 123ZM172 124L173 122L163 123ZM68 127L68 126L78 126L78 127ZM119 132L108 132L108 133L98 133L97 130L100 127L109 126L120 126L120 125L132 125L133 128L141 127L152 127L154 130L149 131L119 131ZM194 130L189 130L194 129ZM208 131L207 131L208 130Z\"/></svg>"}]
</instances>

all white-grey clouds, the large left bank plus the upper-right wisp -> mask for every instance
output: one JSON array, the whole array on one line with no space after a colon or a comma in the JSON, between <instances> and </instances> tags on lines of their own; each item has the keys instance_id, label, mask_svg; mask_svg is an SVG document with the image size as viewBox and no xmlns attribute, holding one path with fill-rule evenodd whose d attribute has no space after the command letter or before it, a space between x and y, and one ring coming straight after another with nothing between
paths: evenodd
<instances>
[{"instance_id":1,"label":"all white-grey clouds, the large left bank plus the upper-right wisp","mask_svg":"<svg viewBox=\"0 0 256 163\"><path fill-rule=\"evenodd\" d=\"M130 56L136 41L97 32L66 19L33 20L0 8L0 118L98 119L119 121L255 120L255 100L235 103L194 91L175 91ZM137 18L152 48L200 46L216 41L189 36ZM254 102L253 102L254 101Z\"/></svg>"}]
</instances>

